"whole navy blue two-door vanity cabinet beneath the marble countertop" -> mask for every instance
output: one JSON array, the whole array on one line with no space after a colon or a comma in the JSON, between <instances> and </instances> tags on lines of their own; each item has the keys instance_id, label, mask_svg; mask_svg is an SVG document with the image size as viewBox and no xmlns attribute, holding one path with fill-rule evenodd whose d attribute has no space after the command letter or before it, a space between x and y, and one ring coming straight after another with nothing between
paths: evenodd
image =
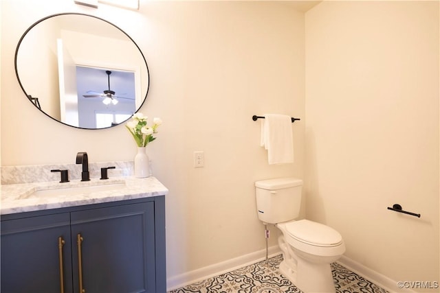
<instances>
[{"instance_id":1,"label":"whole navy blue two-door vanity cabinet beneath the marble countertop","mask_svg":"<svg viewBox=\"0 0 440 293\"><path fill-rule=\"evenodd\" d=\"M26 214L1 216L2 293L166 292L164 196Z\"/></svg>"}]
</instances>

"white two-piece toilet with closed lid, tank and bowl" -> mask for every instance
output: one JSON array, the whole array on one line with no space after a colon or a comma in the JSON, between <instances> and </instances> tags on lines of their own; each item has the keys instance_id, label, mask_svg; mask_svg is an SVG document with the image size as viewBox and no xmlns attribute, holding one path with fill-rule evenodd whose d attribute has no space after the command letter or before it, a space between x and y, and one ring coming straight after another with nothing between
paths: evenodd
<instances>
[{"instance_id":1,"label":"white two-piece toilet with closed lid, tank and bowl","mask_svg":"<svg viewBox=\"0 0 440 293\"><path fill-rule=\"evenodd\" d=\"M335 292L330 263L345 252L338 231L298 218L303 180L276 178L256 181L256 209L265 224L276 224L283 232L278 245L284 260L280 271L306 293Z\"/></svg>"}]
</instances>

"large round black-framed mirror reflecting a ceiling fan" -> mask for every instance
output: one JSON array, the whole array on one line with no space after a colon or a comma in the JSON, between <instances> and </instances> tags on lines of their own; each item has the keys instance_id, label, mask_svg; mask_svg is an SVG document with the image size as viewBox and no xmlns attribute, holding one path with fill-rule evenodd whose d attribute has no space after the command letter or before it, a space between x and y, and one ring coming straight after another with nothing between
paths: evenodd
<instances>
[{"instance_id":1,"label":"large round black-framed mirror reflecting a ceiling fan","mask_svg":"<svg viewBox=\"0 0 440 293\"><path fill-rule=\"evenodd\" d=\"M36 108L78 128L126 121L148 93L139 47L115 25L85 14L56 14L32 25L17 45L15 69Z\"/></svg>"}]
</instances>

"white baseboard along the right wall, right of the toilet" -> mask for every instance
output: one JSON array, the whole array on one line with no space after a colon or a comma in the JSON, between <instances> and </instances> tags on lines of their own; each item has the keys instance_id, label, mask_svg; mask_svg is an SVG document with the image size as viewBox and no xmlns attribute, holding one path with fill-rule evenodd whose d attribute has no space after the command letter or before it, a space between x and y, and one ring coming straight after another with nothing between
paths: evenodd
<instances>
[{"instance_id":1,"label":"white baseboard along the right wall, right of the toilet","mask_svg":"<svg viewBox=\"0 0 440 293\"><path fill-rule=\"evenodd\" d=\"M406 288L402 288L402 289L397 288L397 281L390 279L384 276L383 274L376 272L375 270L371 270L371 268L367 268L361 263L358 263L357 261L353 261L353 259L350 259L345 255L342 255L342 257L338 260L338 263L342 264L342 266L348 268L352 272L359 274L361 277L364 277L365 279L375 283L381 288L384 288L388 292L402 292L402 293L415 292Z\"/></svg>"}]
</instances>

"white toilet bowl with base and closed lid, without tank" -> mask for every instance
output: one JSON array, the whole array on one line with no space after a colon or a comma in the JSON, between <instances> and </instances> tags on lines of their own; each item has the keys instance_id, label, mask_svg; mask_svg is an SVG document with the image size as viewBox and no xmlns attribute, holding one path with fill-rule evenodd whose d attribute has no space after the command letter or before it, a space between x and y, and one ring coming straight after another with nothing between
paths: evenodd
<instances>
[{"instance_id":1,"label":"white toilet bowl with base and closed lid, without tank","mask_svg":"<svg viewBox=\"0 0 440 293\"><path fill-rule=\"evenodd\" d=\"M329 226L309 220L276 224L283 235L280 271L303 292L335 292L330 263L345 252L342 236Z\"/></svg>"}]
</instances>

